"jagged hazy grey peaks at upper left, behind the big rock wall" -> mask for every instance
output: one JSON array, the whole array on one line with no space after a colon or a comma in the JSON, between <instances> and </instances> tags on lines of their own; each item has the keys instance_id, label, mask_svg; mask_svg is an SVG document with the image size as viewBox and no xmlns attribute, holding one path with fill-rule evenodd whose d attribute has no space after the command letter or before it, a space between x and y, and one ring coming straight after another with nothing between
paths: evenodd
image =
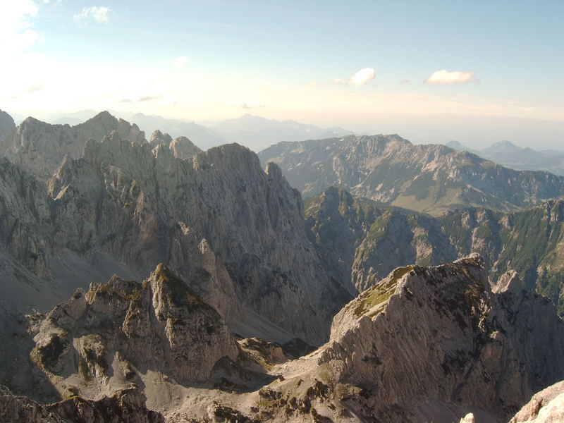
<instances>
[{"instance_id":1,"label":"jagged hazy grey peaks at upper left, behind the big rock wall","mask_svg":"<svg viewBox=\"0 0 564 423\"><path fill-rule=\"evenodd\" d=\"M4 141L0 137L0 155L46 180L59 167L63 157L80 158L87 140L102 140L112 131L130 142L146 142L145 133L137 125L102 111L75 126L51 125L27 118Z\"/></svg>"}]
</instances>

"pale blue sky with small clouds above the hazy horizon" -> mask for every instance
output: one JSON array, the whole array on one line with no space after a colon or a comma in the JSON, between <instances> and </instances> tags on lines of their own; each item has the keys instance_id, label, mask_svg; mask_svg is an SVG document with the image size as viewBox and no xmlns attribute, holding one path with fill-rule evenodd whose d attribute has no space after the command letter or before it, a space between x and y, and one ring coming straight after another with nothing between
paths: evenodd
<instances>
[{"instance_id":1,"label":"pale blue sky with small clouds above the hazy horizon","mask_svg":"<svg viewBox=\"0 0 564 423\"><path fill-rule=\"evenodd\" d=\"M0 109L564 147L564 1L0 0Z\"/></svg>"}]
</instances>

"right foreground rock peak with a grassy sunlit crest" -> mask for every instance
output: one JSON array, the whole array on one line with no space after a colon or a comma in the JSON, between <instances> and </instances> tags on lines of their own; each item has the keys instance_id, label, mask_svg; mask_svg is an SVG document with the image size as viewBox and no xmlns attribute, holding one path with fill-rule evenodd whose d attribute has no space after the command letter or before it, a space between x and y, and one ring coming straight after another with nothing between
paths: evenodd
<instances>
[{"instance_id":1,"label":"right foreground rock peak with a grassy sunlit crest","mask_svg":"<svg viewBox=\"0 0 564 423\"><path fill-rule=\"evenodd\" d=\"M341 381L379 391L388 407L405 403L414 415L424 412L417 398L513 414L561 379L564 324L534 293L492 295L479 260L396 269L337 314L323 360L343 363Z\"/></svg>"}]
</instances>

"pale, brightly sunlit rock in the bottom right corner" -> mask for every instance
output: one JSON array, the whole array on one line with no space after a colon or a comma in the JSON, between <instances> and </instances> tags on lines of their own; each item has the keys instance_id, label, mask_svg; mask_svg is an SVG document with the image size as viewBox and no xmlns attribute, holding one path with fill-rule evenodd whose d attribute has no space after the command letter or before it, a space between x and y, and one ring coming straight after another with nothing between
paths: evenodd
<instances>
[{"instance_id":1,"label":"pale, brightly sunlit rock in the bottom right corner","mask_svg":"<svg viewBox=\"0 0 564 423\"><path fill-rule=\"evenodd\" d=\"M535 393L509 423L558 422L564 422L564 381Z\"/></svg>"}]
</instances>

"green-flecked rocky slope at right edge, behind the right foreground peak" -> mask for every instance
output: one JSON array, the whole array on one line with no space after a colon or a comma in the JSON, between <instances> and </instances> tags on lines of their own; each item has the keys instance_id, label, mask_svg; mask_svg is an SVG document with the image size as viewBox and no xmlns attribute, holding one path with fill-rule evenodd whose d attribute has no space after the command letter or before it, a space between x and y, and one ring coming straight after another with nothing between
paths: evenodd
<instances>
[{"instance_id":1,"label":"green-flecked rocky slope at right edge, behind the right foreground peak","mask_svg":"<svg viewBox=\"0 0 564 423\"><path fill-rule=\"evenodd\" d=\"M471 208L439 222L460 255L474 251L491 260L494 280L513 269L527 288L536 288L564 312L563 201L510 213Z\"/></svg>"}]
</instances>

